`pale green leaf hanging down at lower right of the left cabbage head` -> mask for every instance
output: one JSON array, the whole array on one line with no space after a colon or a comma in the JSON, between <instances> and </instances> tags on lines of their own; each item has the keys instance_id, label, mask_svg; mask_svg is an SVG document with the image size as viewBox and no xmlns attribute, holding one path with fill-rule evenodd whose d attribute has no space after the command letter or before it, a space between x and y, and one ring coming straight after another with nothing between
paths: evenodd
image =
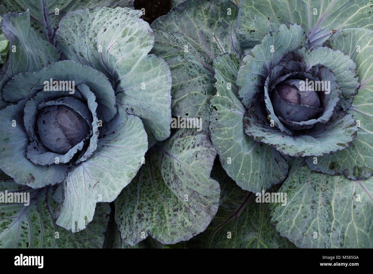
<instances>
[{"instance_id":1,"label":"pale green leaf hanging down at lower right of the left cabbage head","mask_svg":"<svg viewBox=\"0 0 373 274\"><path fill-rule=\"evenodd\" d=\"M135 177L147 150L141 119L119 107L92 156L69 171L63 182L64 200L56 223L72 232L85 229L96 203L112 202L119 195Z\"/></svg>"}]
</instances>

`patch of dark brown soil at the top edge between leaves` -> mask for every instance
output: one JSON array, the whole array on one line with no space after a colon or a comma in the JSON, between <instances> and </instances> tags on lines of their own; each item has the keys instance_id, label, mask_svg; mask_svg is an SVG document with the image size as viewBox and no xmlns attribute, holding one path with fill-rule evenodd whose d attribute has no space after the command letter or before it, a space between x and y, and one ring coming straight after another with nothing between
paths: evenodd
<instances>
[{"instance_id":1,"label":"patch of dark brown soil at the top edge between leaves","mask_svg":"<svg viewBox=\"0 0 373 274\"><path fill-rule=\"evenodd\" d=\"M171 9L171 0L135 0L135 9L145 9L140 18L151 24L159 16L166 15Z\"/></svg>"}]
</instances>

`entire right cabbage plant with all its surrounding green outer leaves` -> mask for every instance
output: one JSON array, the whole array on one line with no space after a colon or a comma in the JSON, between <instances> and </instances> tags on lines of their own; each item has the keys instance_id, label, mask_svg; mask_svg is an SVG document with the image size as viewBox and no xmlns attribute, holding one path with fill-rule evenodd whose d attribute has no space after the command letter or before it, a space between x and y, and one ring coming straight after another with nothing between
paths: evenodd
<instances>
[{"instance_id":1,"label":"entire right cabbage plant with all its surrounding green outer leaves","mask_svg":"<svg viewBox=\"0 0 373 274\"><path fill-rule=\"evenodd\" d=\"M188 0L152 23L172 111L209 121L227 174L192 246L372 247L372 7Z\"/></svg>"}]
</instances>

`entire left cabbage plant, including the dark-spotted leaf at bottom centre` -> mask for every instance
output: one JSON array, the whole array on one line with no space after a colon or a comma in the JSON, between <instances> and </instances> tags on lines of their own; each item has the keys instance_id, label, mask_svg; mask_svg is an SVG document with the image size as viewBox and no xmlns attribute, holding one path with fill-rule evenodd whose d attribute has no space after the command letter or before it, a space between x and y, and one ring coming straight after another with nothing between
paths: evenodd
<instances>
[{"instance_id":1,"label":"entire left cabbage plant, including the dark-spotted leaf at bottom centre","mask_svg":"<svg viewBox=\"0 0 373 274\"><path fill-rule=\"evenodd\" d=\"M0 247L162 247L215 216L216 149L131 2L0 4Z\"/></svg>"}]
</instances>

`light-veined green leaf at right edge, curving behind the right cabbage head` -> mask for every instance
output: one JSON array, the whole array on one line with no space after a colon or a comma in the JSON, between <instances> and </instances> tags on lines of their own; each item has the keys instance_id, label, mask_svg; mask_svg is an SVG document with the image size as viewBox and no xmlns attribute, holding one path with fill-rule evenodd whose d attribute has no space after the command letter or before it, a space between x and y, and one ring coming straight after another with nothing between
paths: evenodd
<instances>
[{"instance_id":1,"label":"light-veined green leaf at right edge, curving behind the right cabbage head","mask_svg":"<svg viewBox=\"0 0 373 274\"><path fill-rule=\"evenodd\" d=\"M344 29L336 32L327 45L346 52L356 62L361 85L348 112L359 127L350 147L318 157L317 164L313 157L307 158L306 163L319 172L364 180L373 174L373 31Z\"/></svg>"}]
</instances>

